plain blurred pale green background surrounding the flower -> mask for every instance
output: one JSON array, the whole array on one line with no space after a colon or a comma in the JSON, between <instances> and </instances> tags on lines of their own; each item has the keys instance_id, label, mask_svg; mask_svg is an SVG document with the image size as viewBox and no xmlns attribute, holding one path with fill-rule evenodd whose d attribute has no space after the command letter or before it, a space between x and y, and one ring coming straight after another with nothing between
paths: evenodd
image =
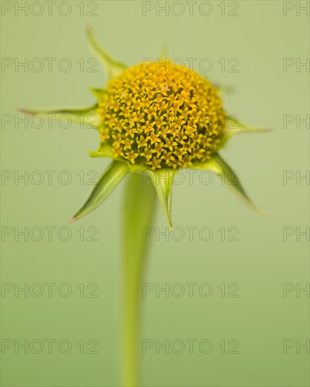
<instances>
[{"instance_id":1,"label":"plain blurred pale green background surrounding the flower","mask_svg":"<svg viewBox=\"0 0 310 387\"><path fill-rule=\"evenodd\" d=\"M4 3L4 1L2 2ZM23 2L19 2L23 3ZM28 2L30 6L31 2ZM59 2L57 2L59 3ZM89 3L89 2L88 2ZM85 12L91 8L87 8ZM304 4L305 2L302 2ZM188 288L182 297L168 293L148 293L142 302L142 339L161 343L175 339L209 339L213 350L166 354L155 347L141 353L142 386L309 386L309 350L297 347L283 354L283 340L309 339L309 293L292 291L283 297L283 284L305 287L309 283L309 245L306 236L296 234L283 241L283 227L309 227L309 181L297 177L283 184L283 171L297 175L309 169L309 125L296 121L283 128L283 115L309 113L309 70L296 65L283 72L283 58L309 57L309 19L297 9L283 15L282 1L238 1L237 16L228 16L233 5L211 1L211 15L194 15L188 8L183 15L169 11L159 16L155 10L142 15L141 1L97 1L97 16L81 16L70 1L72 12L62 16L53 12L1 16L1 55L22 61L24 58L70 58L73 68L51 72L17 72L2 68L1 113L16 114L17 108L87 106L94 102L87 87L103 87L106 74L82 72L76 61L94 57L85 37L89 24L101 44L118 60L128 65L144 57L156 58L167 44L171 58L211 58L213 69L206 75L217 84L233 87L224 96L225 109L249 125L272 127L268 134L244 134L234 138L222 151L225 160L239 172L249 195L270 217L261 217L238 201L217 179L211 184L194 184L185 179L175 186L173 220L177 227L210 227L213 237L193 241L185 234L182 241L171 236L165 241L154 236L147 263L145 282L173 286L180 283L209 283L209 298ZM297 4L292 3L294 6ZM89 4L88 4L89 5ZM161 3L161 5L163 5ZM175 6L175 12L178 12ZM65 11L66 8L63 8ZM174 11L174 10L173 10ZM206 8L204 9L206 12ZM218 61L237 58L238 72L221 71ZM55 63L57 63L57 61ZM197 61L198 63L198 61ZM196 70L199 70L196 66ZM23 118L23 115L18 115ZM80 222L67 220L79 208L91 186L80 184L77 173L94 170L100 174L109 160L89 158L86 148L95 150L96 132L73 125L68 129L56 122L40 128L25 128L23 123L1 127L1 169L18 171L68 170L72 182L59 184L54 178L39 185L13 179L2 184L2 227L70 227L72 238L61 241L14 240L2 243L1 269L4 283L68 283L72 295L49 298L44 291L35 298L13 291L1 294L1 338L9 340L69 340L68 354L46 347L42 353L14 353L1 356L1 386L118 386L118 329L120 286L120 213L123 184L96 212ZM56 175L57 175L56 173ZM54 175L54 176L56 176ZM87 177L88 179L88 177ZM298 184L299 183L299 184ZM156 227L166 231L158 208ZM98 229L97 241L80 241L78 229ZM239 241L221 241L218 229L237 227ZM186 229L185 229L186 231ZM80 231L81 232L81 231ZM177 236L177 234L175 234ZM79 284L94 283L97 298L81 297ZM221 297L218 286L236 283L237 298ZM29 285L29 286L30 286ZM46 289L46 288L45 288ZM89 290L87 290L88 292ZM178 289L175 288L175 292ZM299 296L299 297L298 297ZM307 297L308 296L308 297ZM98 342L97 354L81 354L76 344L81 339ZM239 342L238 354L221 353L218 342ZM87 346L89 348L89 345ZM175 348L178 348L177 346Z\"/></svg>"}]
</instances>

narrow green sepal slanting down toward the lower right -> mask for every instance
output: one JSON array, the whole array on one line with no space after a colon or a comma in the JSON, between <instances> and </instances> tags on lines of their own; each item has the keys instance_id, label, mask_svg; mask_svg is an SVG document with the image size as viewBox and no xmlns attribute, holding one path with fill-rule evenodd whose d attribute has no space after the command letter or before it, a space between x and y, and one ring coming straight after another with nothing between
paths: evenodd
<instances>
[{"instance_id":1,"label":"narrow green sepal slanting down toward the lower right","mask_svg":"<svg viewBox=\"0 0 310 387\"><path fill-rule=\"evenodd\" d=\"M249 205L252 210L258 212L261 215L267 216L269 215L266 212L263 212L260 210L254 203L252 203L251 199L247 194L245 193L240 180L237 177L237 174L234 170L231 169L231 167L225 163L223 158L216 153L213 155L213 158L211 160L207 160L204 162L200 162L195 164L192 168L196 170L210 170L211 172L216 173L216 175L220 176L222 179L222 182L228 186L237 196L239 196L244 203Z\"/></svg>"}]
</instances>

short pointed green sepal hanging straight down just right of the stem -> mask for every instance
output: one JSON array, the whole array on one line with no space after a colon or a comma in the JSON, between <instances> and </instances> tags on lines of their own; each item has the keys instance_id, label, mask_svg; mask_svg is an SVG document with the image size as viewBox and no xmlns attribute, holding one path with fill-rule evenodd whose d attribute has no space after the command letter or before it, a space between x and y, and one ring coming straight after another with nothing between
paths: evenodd
<instances>
[{"instance_id":1,"label":"short pointed green sepal hanging straight down just right of the stem","mask_svg":"<svg viewBox=\"0 0 310 387\"><path fill-rule=\"evenodd\" d=\"M175 173L178 170L147 170L147 175L151 177L152 182L156 188L163 209L163 214L169 224L169 227L173 229L171 220L171 208L172 208L172 190L173 190L173 179Z\"/></svg>"}]
</instances>

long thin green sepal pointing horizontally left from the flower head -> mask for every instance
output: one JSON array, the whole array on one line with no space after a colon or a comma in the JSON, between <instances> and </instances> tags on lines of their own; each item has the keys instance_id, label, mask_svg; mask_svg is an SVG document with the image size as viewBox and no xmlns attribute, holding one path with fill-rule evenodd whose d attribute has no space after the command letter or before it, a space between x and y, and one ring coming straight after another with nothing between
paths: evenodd
<instances>
[{"instance_id":1,"label":"long thin green sepal pointing horizontally left from the flower head","mask_svg":"<svg viewBox=\"0 0 310 387\"><path fill-rule=\"evenodd\" d=\"M59 120L63 116L68 116L72 122L80 124L82 129L95 128L100 124L99 116L97 115L98 104L96 103L89 108L73 108L73 109L46 109L46 110L32 110L20 109L21 113L30 115L42 115L43 118L51 118L52 120ZM45 116L45 117L44 117Z\"/></svg>"}]
</instances>

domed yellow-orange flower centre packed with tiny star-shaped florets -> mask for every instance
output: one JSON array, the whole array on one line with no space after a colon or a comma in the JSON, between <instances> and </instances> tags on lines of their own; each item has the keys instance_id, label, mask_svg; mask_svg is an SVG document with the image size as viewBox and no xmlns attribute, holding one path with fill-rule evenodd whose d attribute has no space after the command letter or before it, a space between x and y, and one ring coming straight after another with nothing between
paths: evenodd
<instances>
[{"instance_id":1,"label":"domed yellow-orange flower centre packed with tiny star-shaped florets","mask_svg":"<svg viewBox=\"0 0 310 387\"><path fill-rule=\"evenodd\" d=\"M110 80L99 103L101 141L152 169L190 167L216 151L224 110L216 88L173 62L136 65Z\"/></svg>"}]
</instances>

